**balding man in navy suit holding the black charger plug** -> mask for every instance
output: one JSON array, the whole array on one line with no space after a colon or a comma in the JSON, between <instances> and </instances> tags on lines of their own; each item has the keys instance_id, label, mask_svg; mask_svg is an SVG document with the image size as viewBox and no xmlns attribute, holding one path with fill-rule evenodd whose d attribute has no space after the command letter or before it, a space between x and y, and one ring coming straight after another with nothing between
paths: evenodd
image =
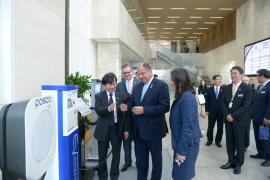
<instances>
[{"instance_id":1,"label":"balding man in navy suit holding the black charger plug","mask_svg":"<svg viewBox=\"0 0 270 180\"><path fill-rule=\"evenodd\" d=\"M121 110L134 112L134 140L138 160L137 179L147 179L149 151L152 156L151 179L158 180L162 173L162 138L168 132L165 113L169 111L168 85L154 78L151 67L143 62L138 65L139 83L133 97Z\"/></svg>"}]
</instances>

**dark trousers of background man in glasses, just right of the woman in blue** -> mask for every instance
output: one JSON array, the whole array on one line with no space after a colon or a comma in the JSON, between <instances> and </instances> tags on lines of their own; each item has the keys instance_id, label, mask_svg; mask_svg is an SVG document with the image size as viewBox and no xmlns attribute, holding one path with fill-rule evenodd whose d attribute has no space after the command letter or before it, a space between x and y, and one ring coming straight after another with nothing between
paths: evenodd
<instances>
[{"instance_id":1,"label":"dark trousers of background man in glasses, just right of the woman in blue","mask_svg":"<svg viewBox=\"0 0 270 180\"><path fill-rule=\"evenodd\" d=\"M207 141L208 142L213 141L213 128L214 128L215 121L217 123L215 142L220 143L222 140L222 135L223 135L223 122L222 122L222 118L218 116L217 111L215 113L215 117L208 116L208 128L207 128L207 134L206 134Z\"/></svg>"}]
</instances>

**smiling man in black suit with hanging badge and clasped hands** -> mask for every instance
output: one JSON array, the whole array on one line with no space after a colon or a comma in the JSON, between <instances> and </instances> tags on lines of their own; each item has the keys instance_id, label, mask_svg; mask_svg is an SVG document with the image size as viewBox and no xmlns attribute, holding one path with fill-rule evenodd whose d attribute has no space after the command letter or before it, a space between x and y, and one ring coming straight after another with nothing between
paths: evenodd
<instances>
[{"instance_id":1,"label":"smiling man in black suit with hanging badge and clasped hands","mask_svg":"<svg viewBox=\"0 0 270 180\"><path fill-rule=\"evenodd\" d=\"M243 142L248 126L248 108L252 101L252 88L241 81L242 76L243 69L241 67L234 66L230 69L230 78L233 83L225 86L221 100L228 162L220 168L234 167L234 174L241 172L241 166L244 162Z\"/></svg>"}]
</instances>

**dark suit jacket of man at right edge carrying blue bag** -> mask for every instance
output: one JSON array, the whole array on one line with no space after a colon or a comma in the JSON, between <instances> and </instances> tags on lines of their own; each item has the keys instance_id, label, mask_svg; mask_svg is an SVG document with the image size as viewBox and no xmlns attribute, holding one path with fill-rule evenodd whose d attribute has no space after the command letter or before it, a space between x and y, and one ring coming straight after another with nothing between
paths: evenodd
<instances>
[{"instance_id":1,"label":"dark suit jacket of man at right edge carrying blue bag","mask_svg":"<svg viewBox=\"0 0 270 180\"><path fill-rule=\"evenodd\" d=\"M258 93L260 86L255 91L252 105L252 120L255 122L263 122L263 118L270 119L270 81Z\"/></svg>"}]
</instances>

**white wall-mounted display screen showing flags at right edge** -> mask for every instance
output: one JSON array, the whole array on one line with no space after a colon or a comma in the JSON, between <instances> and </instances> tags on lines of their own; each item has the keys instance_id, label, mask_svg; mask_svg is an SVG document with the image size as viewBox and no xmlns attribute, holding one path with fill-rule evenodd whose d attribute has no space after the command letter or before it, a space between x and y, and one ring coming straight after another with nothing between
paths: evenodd
<instances>
[{"instance_id":1,"label":"white wall-mounted display screen showing flags at right edge","mask_svg":"<svg viewBox=\"0 0 270 180\"><path fill-rule=\"evenodd\" d=\"M269 41L270 38L244 46L244 75L256 75L263 68L270 70Z\"/></svg>"}]
</instances>

